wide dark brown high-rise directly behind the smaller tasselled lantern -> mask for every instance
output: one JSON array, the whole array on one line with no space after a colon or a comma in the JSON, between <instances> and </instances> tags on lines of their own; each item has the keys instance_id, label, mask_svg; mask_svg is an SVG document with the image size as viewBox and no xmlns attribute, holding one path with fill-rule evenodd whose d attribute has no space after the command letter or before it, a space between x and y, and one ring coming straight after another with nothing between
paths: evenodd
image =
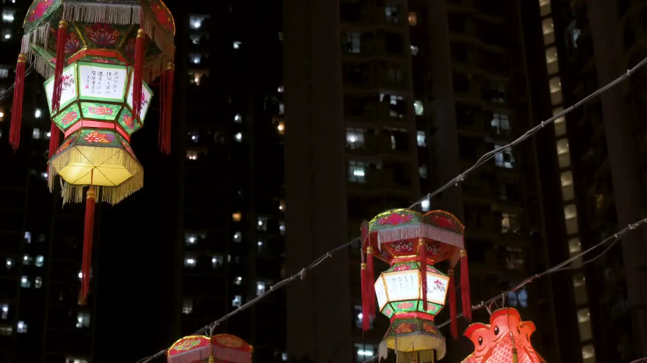
<instances>
[{"instance_id":1,"label":"wide dark brown high-rise directly behind the smaller tasselled lantern","mask_svg":"<svg viewBox=\"0 0 647 363\"><path fill-rule=\"evenodd\" d=\"M517 1L287 0L283 8L291 273L358 236L362 219L410 205L532 126ZM475 304L548 267L536 159L526 141L418 207L465 222ZM375 357L388 320L379 316L362 337L359 263L356 244L288 287L290 355ZM560 353L549 281L505 304L536 321L535 346L552 361ZM470 353L469 342L448 344L448 360Z\"/></svg>"}]
</instances>

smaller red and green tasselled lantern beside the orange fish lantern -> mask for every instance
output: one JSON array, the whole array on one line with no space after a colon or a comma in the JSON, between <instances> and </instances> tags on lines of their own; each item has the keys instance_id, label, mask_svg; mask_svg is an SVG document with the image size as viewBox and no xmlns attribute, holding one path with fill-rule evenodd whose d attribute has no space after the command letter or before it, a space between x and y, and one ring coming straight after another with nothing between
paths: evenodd
<instances>
[{"instance_id":1,"label":"smaller red and green tasselled lantern beside the orange fish lantern","mask_svg":"<svg viewBox=\"0 0 647 363\"><path fill-rule=\"evenodd\" d=\"M452 335L457 338L454 266L460 261L461 295L465 317L472 317L467 254L463 225L445 211L421 214L410 209L391 209L362 223L362 329L379 311L391 326L379 346L380 358L394 350L399 362L432 362L446 353L445 338L434 316L449 298ZM364 256L363 256L364 257ZM373 284L373 258L390 267ZM435 264L448 261L447 273ZM375 297L377 296L377 309Z\"/></svg>"}]
</instances>

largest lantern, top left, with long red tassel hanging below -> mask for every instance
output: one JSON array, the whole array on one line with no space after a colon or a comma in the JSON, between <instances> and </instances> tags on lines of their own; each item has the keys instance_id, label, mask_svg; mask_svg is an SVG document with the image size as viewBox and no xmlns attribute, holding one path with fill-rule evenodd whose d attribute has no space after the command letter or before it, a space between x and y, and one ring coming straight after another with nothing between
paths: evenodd
<instances>
[{"instance_id":1,"label":"largest lantern, top left, with long red tassel hanging below","mask_svg":"<svg viewBox=\"0 0 647 363\"><path fill-rule=\"evenodd\" d=\"M131 136L144 125L157 78L160 149L170 152L175 23L161 0L35 0L23 24L10 144L20 142L26 63L47 80L48 178L63 203L86 192L80 303L89 292L94 203L115 204L143 187ZM61 133L63 141L60 142Z\"/></svg>"}]
</instances>

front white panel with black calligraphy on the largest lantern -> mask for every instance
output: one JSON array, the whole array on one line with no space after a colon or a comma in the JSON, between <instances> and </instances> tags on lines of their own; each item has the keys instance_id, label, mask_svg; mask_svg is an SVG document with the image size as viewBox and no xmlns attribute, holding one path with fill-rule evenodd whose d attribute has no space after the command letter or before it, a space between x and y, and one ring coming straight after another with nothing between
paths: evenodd
<instances>
[{"instance_id":1,"label":"front white panel with black calligraphy on the largest lantern","mask_svg":"<svg viewBox=\"0 0 647 363\"><path fill-rule=\"evenodd\" d=\"M79 93L82 98L124 101L126 67L100 63L79 63Z\"/></svg>"}]
</instances>

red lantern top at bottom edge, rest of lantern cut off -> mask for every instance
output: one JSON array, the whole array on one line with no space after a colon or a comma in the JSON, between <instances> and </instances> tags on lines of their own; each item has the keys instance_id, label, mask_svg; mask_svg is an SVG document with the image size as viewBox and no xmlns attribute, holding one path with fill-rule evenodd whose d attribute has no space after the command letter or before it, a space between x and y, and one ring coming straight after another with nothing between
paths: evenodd
<instances>
[{"instance_id":1,"label":"red lantern top at bottom edge, rest of lantern cut off","mask_svg":"<svg viewBox=\"0 0 647 363\"><path fill-rule=\"evenodd\" d=\"M190 335L166 349L168 363L252 363L254 348L230 334Z\"/></svg>"}]
</instances>

